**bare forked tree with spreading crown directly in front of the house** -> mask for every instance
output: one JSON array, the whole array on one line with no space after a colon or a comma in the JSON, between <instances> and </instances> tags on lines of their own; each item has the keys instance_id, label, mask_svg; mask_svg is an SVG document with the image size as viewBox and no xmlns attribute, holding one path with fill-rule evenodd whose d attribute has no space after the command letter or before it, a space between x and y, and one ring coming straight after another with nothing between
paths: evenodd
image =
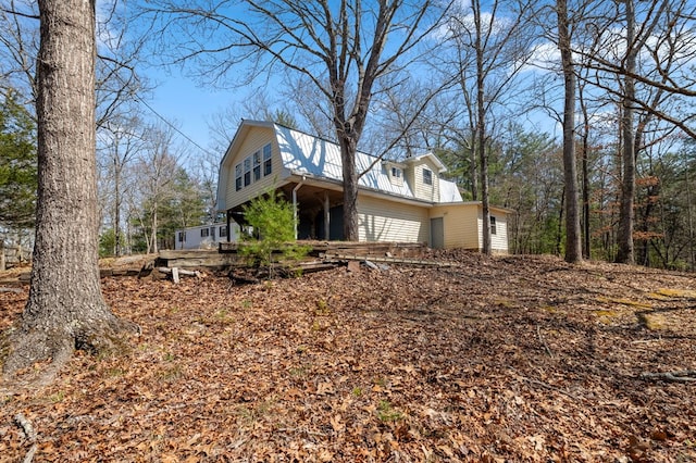
<instances>
[{"instance_id":1,"label":"bare forked tree with spreading crown directly in front of the house","mask_svg":"<svg viewBox=\"0 0 696 463\"><path fill-rule=\"evenodd\" d=\"M183 47L190 53L184 59L209 60L202 72L211 75L212 71L219 83L237 65L250 67L253 76L262 72L271 76L279 65L311 83L330 102L343 162L344 238L357 240L361 173L356 153L370 105L380 80L406 67L447 7L434 0L244 0L222 1L214 9L207 4L182 8L171 0L152 3L159 4L150 7L150 12L163 20L162 30L177 27L179 35L184 30L189 38ZM243 15L239 3L246 7ZM161 37L167 37L171 49L170 36Z\"/></svg>"}]
</instances>

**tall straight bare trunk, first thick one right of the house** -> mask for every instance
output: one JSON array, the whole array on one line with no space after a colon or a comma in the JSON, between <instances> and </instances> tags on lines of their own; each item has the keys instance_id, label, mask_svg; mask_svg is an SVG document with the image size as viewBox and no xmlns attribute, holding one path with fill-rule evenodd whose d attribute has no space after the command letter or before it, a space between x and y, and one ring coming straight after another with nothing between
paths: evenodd
<instances>
[{"instance_id":1,"label":"tall straight bare trunk, first thick one right of the house","mask_svg":"<svg viewBox=\"0 0 696 463\"><path fill-rule=\"evenodd\" d=\"M577 199L577 165L575 160L575 70L566 0L556 2L558 47L563 66L563 183L566 185L566 261L582 262L580 208Z\"/></svg>"}]
</instances>

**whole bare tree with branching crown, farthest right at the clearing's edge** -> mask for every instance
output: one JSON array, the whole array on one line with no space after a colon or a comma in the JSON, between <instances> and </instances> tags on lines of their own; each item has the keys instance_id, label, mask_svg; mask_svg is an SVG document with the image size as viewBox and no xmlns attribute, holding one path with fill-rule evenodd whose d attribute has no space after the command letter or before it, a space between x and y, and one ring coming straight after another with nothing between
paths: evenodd
<instances>
[{"instance_id":1,"label":"whole bare tree with branching crown, farthest right at the clearing's edge","mask_svg":"<svg viewBox=\"0 0 696 463\"><path fill-rule=\"evenodd\" d=\"M614 260L634 263L636 160L645 148L645 127L657 118L696 137L696 114L683 110L689 108L684 100L696 96L691 59L696 45L696 7L686 0L622 0L602 2L595 11L595 22L587 26L595 42L577 47L575 52L582 55L583 66L594 71L582 78L620 108L620 216Z\"/></svg>"}]
</instances>

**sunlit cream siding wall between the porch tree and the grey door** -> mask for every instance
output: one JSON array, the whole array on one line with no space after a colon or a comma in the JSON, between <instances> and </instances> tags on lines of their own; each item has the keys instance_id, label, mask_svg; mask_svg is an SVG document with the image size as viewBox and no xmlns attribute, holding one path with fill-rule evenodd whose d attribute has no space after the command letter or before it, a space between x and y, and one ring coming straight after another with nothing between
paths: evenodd
<instances>
[{"instance_id":1,"label":"sunlit cream siding wall between the porch tree and the grey door","mask_svg":"<svg viewBox=\"0 0 696 463\"><path fill-rule=\"evenodd\" d=\"M358 234L360 241L427 242L427 209L359 196Z\"/></svg>"}]
</instances>

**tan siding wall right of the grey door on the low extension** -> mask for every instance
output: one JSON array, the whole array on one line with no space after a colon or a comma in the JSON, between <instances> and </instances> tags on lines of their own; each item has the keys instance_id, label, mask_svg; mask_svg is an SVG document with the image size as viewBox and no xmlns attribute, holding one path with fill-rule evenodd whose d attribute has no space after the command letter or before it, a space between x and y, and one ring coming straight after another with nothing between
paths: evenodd
<instances>
[{"instance_id":1,"label":"tan siding wall right of the grey door on the low extension","mask_svg":"<svg viewBox=\"0 0 696 463\"><path fill-rule=\"evenodd\" d=\"M478 204L438 205L431 210L431 218L443 217L445 248L450 249L481 249L478 215Z\"/></svg>"}]
</instances>

